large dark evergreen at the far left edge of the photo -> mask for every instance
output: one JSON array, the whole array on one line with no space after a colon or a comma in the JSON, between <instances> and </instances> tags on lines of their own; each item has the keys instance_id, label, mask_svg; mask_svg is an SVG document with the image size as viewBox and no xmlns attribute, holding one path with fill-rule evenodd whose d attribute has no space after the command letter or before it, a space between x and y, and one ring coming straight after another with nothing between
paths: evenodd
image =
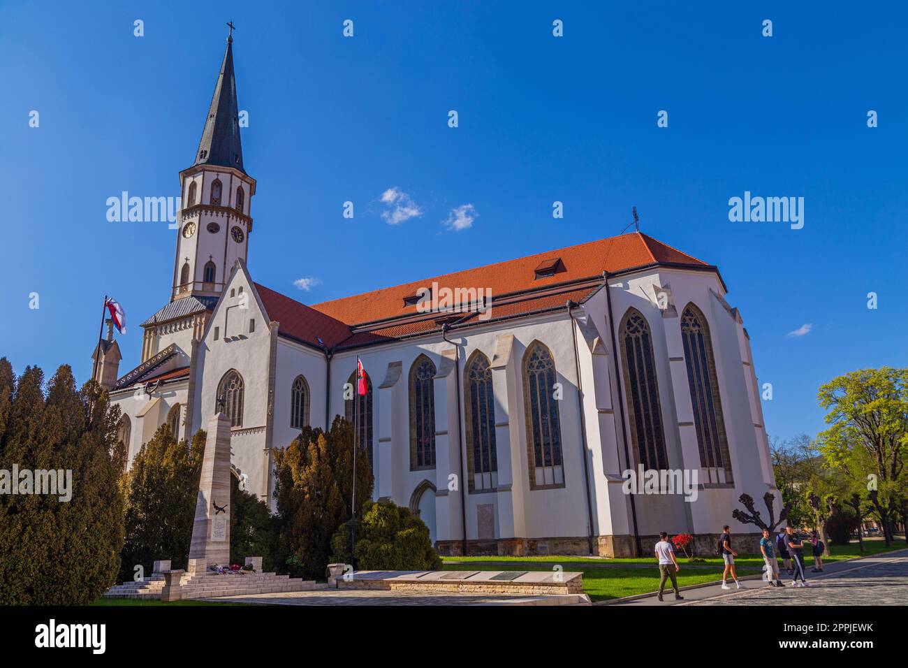
<instances>
[{"instance_id":1,"label":"large dark evergreen at the far left edge of the photo","mask_svg":"<svg viewBox=\"0 0 908 668\"><path fill-rule=\"evenodd\" d=\"M76 390L65 364L46 396L43 386L39 368L16 381L0 360L0 469L18 468L6 484L19 492L23 472L34 481L32 494L0 494L0 603L91 603L114 583L123 546L120 411L94 382ZM39 494L38 472L51 471L56 494Z\"/></svg>"}]
</instances>

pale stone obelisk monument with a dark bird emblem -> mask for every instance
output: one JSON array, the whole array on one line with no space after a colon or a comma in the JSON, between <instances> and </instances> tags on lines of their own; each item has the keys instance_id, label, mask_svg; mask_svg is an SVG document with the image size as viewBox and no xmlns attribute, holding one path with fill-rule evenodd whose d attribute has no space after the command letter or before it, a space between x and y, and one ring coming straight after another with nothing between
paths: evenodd
<instances>
[{"instance_id":1,"label":"pale stone obelisk monument with a dark bird emblem","mask_svg":"<svg viewBox=\"0 0 908 668\"><path fill-rule=\"evenodd\" d=\"M230 419L222 413L208 423L189 546L191 574L230 564L230 427Z\"/></svg>"}]
</instances>

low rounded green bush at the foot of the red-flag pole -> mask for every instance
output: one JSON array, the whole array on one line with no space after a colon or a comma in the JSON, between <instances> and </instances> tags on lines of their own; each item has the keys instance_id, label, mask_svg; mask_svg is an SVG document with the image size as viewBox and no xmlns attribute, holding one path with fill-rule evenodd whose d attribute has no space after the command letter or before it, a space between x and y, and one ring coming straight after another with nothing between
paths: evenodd
<instances>
[{"instance_id":1,"label":"low rounded green bush at the foot of the red-flag pole","mask_svg":"<svg viewBox=\"0 0 908 668\"><path fill-rule=\"evenodd\" d=\"M350 522L331 537L332 562L352 563L363 571L438 571L441 559L432 549L426 524L390 501L369 501L356 524L356 551L350 558Z\"/></svg>"}]
</instances>

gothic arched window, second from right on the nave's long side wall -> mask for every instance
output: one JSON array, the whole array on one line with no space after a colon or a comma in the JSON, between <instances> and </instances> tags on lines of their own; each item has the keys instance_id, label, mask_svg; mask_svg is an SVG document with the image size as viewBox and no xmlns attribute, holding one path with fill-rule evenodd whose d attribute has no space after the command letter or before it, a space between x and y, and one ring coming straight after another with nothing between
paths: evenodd
<instances>
[{"instance_id":1,"label":"gothic arched window, second from right on the nave's long side wall","mask_svg":"<svg viewBox=\"0 0 908 668\"><path fill-rule=\"evenodd\" d=\"M479 351L469 358L464 369L464 400L469 491L493 490L498 486L495 397L489 358Z\"/></svg>"}]
</instances>

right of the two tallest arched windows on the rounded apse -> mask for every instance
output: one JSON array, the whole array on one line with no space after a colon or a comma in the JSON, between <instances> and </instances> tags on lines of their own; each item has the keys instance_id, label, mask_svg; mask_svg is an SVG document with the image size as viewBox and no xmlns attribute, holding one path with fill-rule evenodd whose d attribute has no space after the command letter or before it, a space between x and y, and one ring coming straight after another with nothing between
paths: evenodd
<instances>
[{"instance_id":1,"label":"right of the two tallest arched windows on the rounded apse","mask_svg":"<svg viewBox=\"0 0 908 668\"><path fill-rule=\"evenodd\" d=\"M732 464L725 438L713 344L709 338L706 316L694 304L687 304L681 314L681 340L684 343L690 400L694 408L700 465L706 469L707 483L730 484L734 482Z\"/></svg>"}]
</instances>

